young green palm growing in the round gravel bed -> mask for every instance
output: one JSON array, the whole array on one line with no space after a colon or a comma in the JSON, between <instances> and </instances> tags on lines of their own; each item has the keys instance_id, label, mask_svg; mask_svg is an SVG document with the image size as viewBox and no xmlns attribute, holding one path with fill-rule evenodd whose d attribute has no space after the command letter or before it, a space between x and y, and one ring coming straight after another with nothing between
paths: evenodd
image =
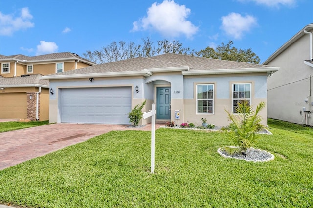
<instances>
[{"instance_id":1,"label":"young green palm growing in the round gravel bed","mask_svg":"<svg viewBox=\"0 0 313 208\"><path fill-rule=\"evenodd\" d=\"M228 154L236 153L246 155L248 148L252 147L257 139L256 132L265 129L261 124L262 117L258 113L265 107L265 102L261 102L253 111L247 100L240 100L236 107L237 114L231 114L227 110L228 120L231 124L222 130L229 136L236 148L222 147Z\"/></svg>"}]
</instances>

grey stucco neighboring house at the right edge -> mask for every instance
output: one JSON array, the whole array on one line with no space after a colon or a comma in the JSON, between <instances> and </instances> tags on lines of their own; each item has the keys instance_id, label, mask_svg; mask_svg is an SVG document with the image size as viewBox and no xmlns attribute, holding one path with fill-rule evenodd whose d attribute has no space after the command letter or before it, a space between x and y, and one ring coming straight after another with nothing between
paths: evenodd
<instances>
[{"instance_id":1,"label":"grey stucco neighboring house at the right edge","mask_svg":"<svg viewBox=\"0 0 313 208\"><path fill-rule=\"evenodd\" d=\"M313 125L313 24L305 26L263 64L280 70L268 78L268 117Z\"/></svg>"}]
</instances>

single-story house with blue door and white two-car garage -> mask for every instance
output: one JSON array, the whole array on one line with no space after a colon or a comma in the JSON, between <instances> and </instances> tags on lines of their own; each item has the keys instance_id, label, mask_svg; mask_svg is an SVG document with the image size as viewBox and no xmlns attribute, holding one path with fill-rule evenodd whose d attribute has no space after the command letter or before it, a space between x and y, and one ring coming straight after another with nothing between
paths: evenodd
<instances>
[{"instance_id":1,"label":"single-story house with blue door and white two-car garage","mask_svg":"<svg viewBox=\"0 0 313 208\"><path fill-rule=\"evenodd\" d=\"M248 99L267 101L267 76L277 67L180 54L133 58L41 77L50 81L49 121L129 124L127 113L147 100L157 121L225 126L226 110ZM175 112L180 118L175 119ZM267 110L261 112L267 124ZM150 121L142 120L141 125Z\"/></svg>"}]
</instances>

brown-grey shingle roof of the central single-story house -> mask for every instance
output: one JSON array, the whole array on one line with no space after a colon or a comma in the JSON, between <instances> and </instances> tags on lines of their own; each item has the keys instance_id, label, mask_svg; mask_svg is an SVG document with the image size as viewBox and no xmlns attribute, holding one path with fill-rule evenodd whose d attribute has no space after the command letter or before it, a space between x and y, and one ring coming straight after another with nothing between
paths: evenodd
<instances>
[{"instance_id":1,"label":"brown-grey shingle roof of the central single-story house","mask_svg":"<svg viewBox=\"0 0 313 208\"><path fill-rule=\"evenodd\" d=\"M138 57L117 62L109 62L81 69L66 71L62 73L51 74L51 76L96 74L110 72L132 72L132 71L144 71L146 69L171 68L182 66L189 67L190 70L246 69L246 68L257 69L269 67L266 65L209 59L182 54L163 54L150 58ZM48 77L50 75L46 76Z\"/></svg>"}]
</instances>

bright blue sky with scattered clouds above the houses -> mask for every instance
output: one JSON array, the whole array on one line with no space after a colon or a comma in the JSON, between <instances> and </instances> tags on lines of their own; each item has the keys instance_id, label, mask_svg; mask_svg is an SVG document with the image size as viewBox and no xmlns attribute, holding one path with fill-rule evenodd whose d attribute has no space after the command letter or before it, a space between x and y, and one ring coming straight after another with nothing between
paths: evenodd
<instances>
[{"instance_id":1,"label":"bright blue sky with scattered clouds above the houses","mask_svg":"<svg viewBox=\"0 0 313 208\"><path fill-rule=\"evenodd\" d=\"M232 40L262 63L309 23L313 0L1 0L0 54L82 56L149 37L196 51Z\"/></svg>"}]
</instances>

